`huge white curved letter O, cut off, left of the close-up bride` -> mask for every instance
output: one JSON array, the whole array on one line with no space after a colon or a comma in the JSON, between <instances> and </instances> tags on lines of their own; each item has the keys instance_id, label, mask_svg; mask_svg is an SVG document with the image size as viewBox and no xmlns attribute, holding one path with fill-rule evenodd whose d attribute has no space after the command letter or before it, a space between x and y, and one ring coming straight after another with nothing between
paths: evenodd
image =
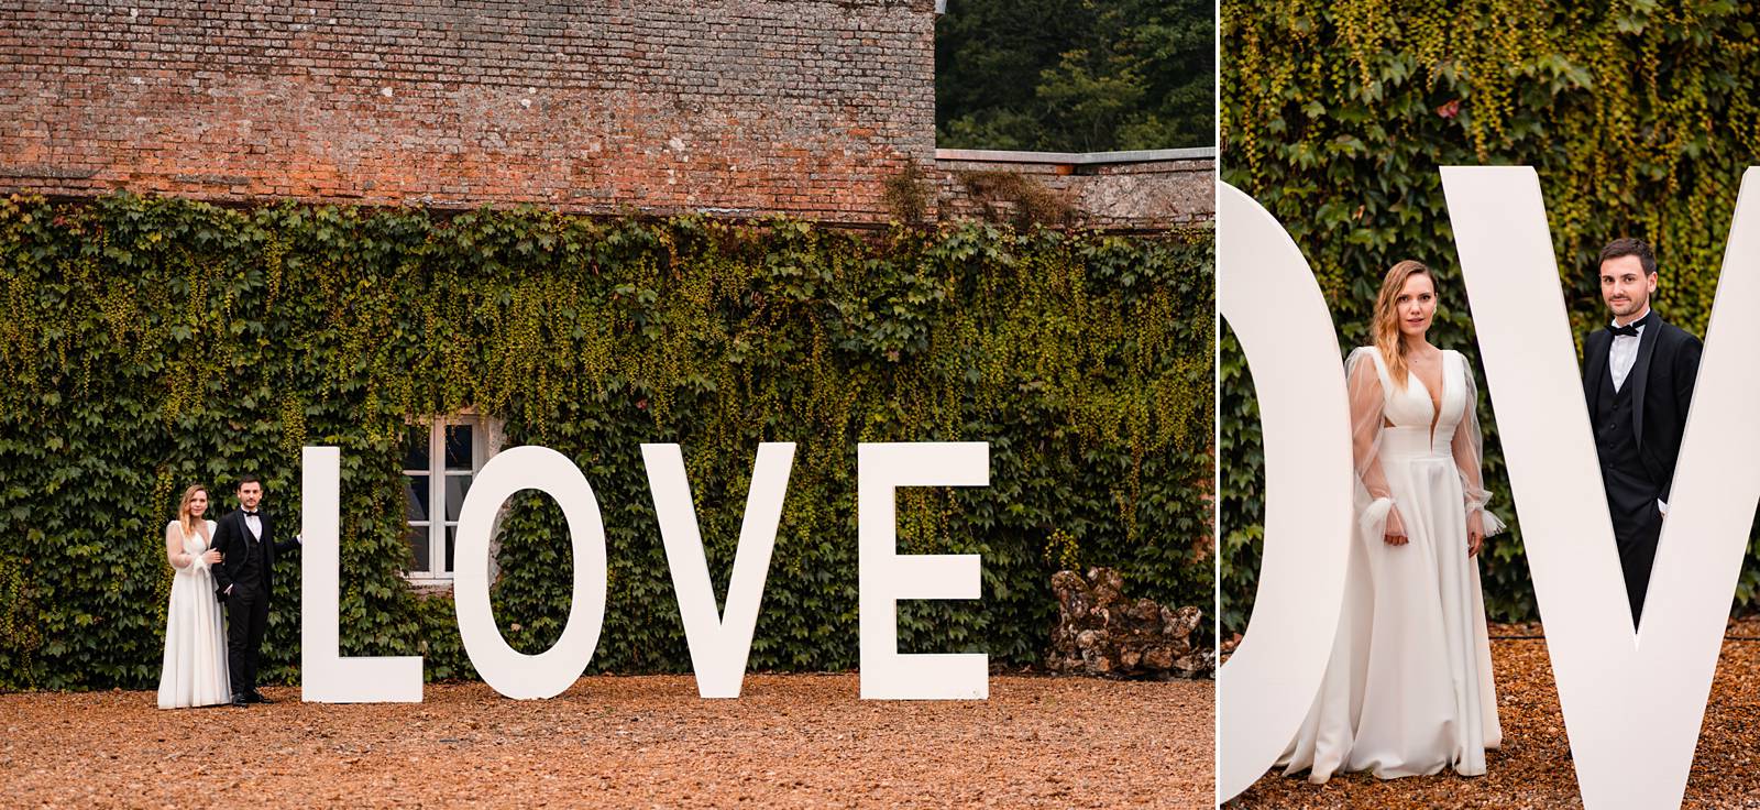
<instances>
[{"instance_id":1,"label":"huge white curved letter O, cut off, left of the close-up bride","mask_svg":"<svg viewBox=\"0 0 1760 810\"><path fill-rule=\"evenodd\" d=\"M1218 183L1216 259L1216 310L1251 363L1265 444L1258 597L1216 676L1218 798L1230 799L1276 762L1320 690L1345 595L1353 482L1345 364L1302 252L1258 202Z\"/></svg>"}]
</instances>

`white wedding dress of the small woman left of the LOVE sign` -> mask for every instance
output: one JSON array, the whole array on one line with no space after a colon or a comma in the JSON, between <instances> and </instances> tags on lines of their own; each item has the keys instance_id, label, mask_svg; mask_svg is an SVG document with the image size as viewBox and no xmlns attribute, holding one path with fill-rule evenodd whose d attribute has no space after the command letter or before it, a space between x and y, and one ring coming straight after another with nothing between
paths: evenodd
<instances>
[{"instance_id":1,"label":"white wedding dress of the small woman left of the LOVE sign","mask_svg":"<svg viewBox=\"0 0 1760 810\"><path fill-rule=\"evenodd\" d=\"M215 521L208 537L215 535ZM215 578L202 562L208 541L201 532L185 535L183 525L165 526L167 553L176 572L165 608L165 662L158 674L158 708L209 706L232 699L225 660L225 623L215 599ZM181 562L181 565L180 565Z\"/></svg>"}]
</instances>

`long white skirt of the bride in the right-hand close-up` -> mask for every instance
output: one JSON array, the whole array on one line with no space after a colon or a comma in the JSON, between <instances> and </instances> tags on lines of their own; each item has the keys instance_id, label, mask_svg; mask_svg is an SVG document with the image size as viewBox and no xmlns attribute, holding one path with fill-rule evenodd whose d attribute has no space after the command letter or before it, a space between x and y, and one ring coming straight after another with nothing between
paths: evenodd
<instances>
[{"instance_id":1,"label":"long white skirt of the bride in the right-hand close-up","mask_svg":"<svg viewBox=\"0 0 1760 810\"><path fill-rule=\"evenodd\" d=\"M1360 498L1325 680L1278 762L1315 784L1336 771L1477 777L1503 741L1459 470L1426 453L1429 442L1399 447L1397 433L1387 431L1380 460L1410 542L1389 546L1389 502Z\"/></svg>"}]
</instances>

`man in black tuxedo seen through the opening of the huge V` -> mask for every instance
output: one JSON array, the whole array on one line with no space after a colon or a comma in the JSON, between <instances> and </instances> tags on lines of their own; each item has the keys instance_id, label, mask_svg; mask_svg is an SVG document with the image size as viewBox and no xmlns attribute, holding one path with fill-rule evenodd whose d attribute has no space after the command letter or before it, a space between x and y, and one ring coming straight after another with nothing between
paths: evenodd
<instances>
[{"instance_id":1,"label":"man in black tuxedo seen through the opening of the huge V","mask_svg":"<svg viewBox=\"0 0 1760 810\"><path fill-rule=\"evenodd\" d=\"M1656 255L1639 239L1602 248L1602 301L1614 320L1582 342L1582 394L1595 426L1602 486L1637 629L1656 537L1698 377L1698 338L1651 312Z\"/></svg>"}]
</instances>

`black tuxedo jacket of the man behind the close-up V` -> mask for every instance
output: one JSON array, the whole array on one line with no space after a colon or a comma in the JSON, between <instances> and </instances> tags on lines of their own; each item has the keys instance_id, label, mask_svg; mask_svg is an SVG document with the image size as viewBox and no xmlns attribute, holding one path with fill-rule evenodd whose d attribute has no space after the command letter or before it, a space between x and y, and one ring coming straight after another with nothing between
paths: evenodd
<instances>
[{"instance_id":1,"label":"black tuxedo jacket of the man behind the close-up V","mask_svg":"<svg viewBox=\"0 0 1760 810\"><path fill-rule=\"evenodd\" d=\"M1582 342L1582 396L1589 403L1591 424L1602 377L1610 373L1607 352L1612 345L1614 336L1607 329L1595 329ZM1632 435L1639 440L1639 458L1651 481L1661 488L1656 497L1663 502L1674 484L1674 461L1681 456L1681 431L1686 430L1686 410L1693 401L1700 350L1698 338L1651 310L1639 336L1639 356L1624 382L1633 386Z\"/></svg>"}]
</instances>

